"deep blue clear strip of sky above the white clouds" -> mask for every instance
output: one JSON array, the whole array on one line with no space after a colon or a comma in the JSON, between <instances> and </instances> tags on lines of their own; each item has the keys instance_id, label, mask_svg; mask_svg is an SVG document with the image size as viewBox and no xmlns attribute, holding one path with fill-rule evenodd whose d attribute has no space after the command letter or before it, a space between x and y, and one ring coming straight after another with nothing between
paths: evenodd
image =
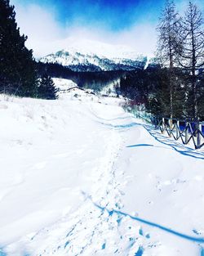
<instances>
[{"instance_id":1,"label":"deep blue clear strip of sky above the white clouds","mask_svg":"<svg viewBox=\"0 0 204 256\"><path fill-rule=\"evenodd\" d=\"M61 25L100 25L120 31L135 22L155 22L164 0L16 0L16 4L32 4L55 11Z\"/></svg>"}]
</instances>

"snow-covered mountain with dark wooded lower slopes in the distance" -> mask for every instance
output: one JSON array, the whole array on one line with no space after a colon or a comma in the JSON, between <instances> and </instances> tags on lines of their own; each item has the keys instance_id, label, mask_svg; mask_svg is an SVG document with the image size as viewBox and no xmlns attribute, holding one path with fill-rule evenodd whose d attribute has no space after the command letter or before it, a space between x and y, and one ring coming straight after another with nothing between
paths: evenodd
<instances>
[{"instance_id":1,"label":"snow-covered mountain with dark wooded lower slopes in the distance","mask_svg":"<svg viewBox=\"0 0 204 256\"><path fill-rule=\"evenodd\" d=\"M153 58L123 45L69 40L69 47L43 56L40 61L68 66L73 71L105 71L145 69Z\"/></svg>"}]
</instances>

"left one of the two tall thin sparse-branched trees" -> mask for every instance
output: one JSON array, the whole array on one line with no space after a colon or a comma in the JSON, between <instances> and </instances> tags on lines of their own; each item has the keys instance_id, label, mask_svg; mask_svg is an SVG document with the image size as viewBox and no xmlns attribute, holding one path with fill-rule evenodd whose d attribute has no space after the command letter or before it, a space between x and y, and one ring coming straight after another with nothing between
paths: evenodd
<instances>
[{"instance_id":1,"label":"left one of the two tall thin sparse-branched trees","mask_svg":"<svg viewBox=\"0 0 204 256\"><path fill-rule=\"evenodd\" d=\"M166 0L166 6L162 11L159 25L157 26L158 40L157 40L157 56L162 62L163 67L168 70L167 81L168 92L165 93L166 102L168 102L168 110L170 117L175 114L175 92L177 91L175 83L175 63L177 60L178 49L180 48L180 38L178 38L178 31L180 28L180 18L175 11L175 3L170 0ZM166 73L166 72L165 72ZM166 80L166 78L165 78ZM164 105L166 106L166 104ZM165 110L164 110L165 111Z\"/></svg>"}]
</instances>

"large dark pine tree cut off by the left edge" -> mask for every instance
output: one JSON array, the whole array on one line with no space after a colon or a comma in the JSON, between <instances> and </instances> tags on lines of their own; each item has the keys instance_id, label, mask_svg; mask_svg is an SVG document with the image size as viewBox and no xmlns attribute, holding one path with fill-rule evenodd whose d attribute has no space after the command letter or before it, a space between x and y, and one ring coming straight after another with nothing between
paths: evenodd
<instances>
[{"instance_id":1,"label":"large dark pine tree cut off by the left edge","mask_svg":"<svg viewBox=\"0 0 204 256\"><path fill-rule=\"evenodd\" d=\"M25 97L36 96L33 52L24 43L16 24L14 6L0 0L0 90Z\"/></svg>"}]
</instances>

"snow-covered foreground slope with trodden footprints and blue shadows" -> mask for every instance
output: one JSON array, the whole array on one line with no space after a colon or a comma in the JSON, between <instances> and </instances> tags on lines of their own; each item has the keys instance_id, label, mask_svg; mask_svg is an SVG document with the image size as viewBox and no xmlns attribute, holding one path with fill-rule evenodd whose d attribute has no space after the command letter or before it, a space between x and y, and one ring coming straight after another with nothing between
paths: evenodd
<instances>
[{"instance_id":1,"label":"snow-covered foreground slope with trodden footprints and blue shadows","mask_svg":"<svg viewBox=\"0 0 204 256\"><path fill-rule=\"evenodd\" d=\"M121 103L1 96L1 256L204 255L203 151Z\"/></svg>"}]
</instances>

